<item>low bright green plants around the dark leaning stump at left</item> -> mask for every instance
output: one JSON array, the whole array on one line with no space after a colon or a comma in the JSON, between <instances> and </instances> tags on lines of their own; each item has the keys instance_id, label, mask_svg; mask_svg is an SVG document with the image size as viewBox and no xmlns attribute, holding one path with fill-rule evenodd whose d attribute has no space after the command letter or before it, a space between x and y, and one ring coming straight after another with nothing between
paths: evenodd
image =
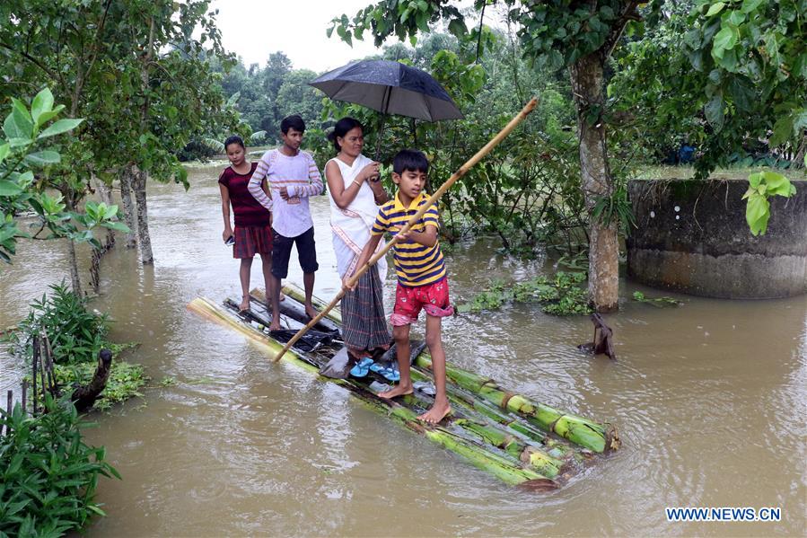
<instances>
[{"instance_id":1,"label":"low bright green plants around the dark leaning stump at left","mask_svg":"<svg viewBox=\"0 0 807 538\"><path fill-rule=\"evenodd\" d=\"M57 365L57 383L62 386L72 386L74 383L85 385L90 383L95 374L97 362ZM101 392L101 397L93 404L93 409L110 410L110 408L129 398L142 397L140 390L148 382L148 376L143 372L142 365L132 365L124 361L112 361L110 377L107 385Z\"/></svg>"}]
</instances>

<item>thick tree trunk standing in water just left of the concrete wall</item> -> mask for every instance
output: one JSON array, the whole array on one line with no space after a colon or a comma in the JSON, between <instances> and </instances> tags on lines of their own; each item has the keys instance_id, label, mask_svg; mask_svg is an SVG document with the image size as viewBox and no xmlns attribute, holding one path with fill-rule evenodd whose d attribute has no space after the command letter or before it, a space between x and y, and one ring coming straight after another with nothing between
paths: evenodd
<instances>
[{"instance_id":1,"label":"thick tree trunk standing in water just left of the concrete wall","mask_svg":"<svg viewBox=\"0 0 807 538\"><path fill-rule=\"evenodd\" d=\"M577 105L577 134L580 139L580 168L585 206L591 214L601 197L613 194L608 165L605 126L601 119L605 103L601 52L578 59L570 69ZM589 295L597 312L618 309L619 243L618 223L605 225L591 218L589 243Z\"/></svg>"}]
</instances>

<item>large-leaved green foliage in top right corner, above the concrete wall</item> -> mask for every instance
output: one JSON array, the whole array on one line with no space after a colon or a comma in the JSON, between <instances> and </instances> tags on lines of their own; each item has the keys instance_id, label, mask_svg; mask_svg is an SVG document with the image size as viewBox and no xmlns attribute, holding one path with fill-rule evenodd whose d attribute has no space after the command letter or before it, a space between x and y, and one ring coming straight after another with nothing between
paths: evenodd
<instances>
[{"instance_id":1,"label":"large-leaved green foliage in top right corner, above the concrete wall","mask_svg":"<svg viewBox=\"0 0 807 538\"><path fill-rule=\"evenodd\" d=\"M621 129L655 156L697 146L699 177L760 156L799 165L807 145L807 2L683 2L618 56ZM791 161L793 159L793 161Z\"/></svg>"}]
</instances>

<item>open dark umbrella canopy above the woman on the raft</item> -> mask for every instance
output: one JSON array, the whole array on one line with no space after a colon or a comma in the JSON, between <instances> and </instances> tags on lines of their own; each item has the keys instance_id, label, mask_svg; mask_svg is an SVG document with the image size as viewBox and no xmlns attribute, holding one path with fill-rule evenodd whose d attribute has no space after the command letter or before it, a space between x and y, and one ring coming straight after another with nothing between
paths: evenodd
<instances>
[{"instance_id":1,"label":"open dark umbrella canopy above the woman on the raft","mask_svg":"<svg viewBox=\"0 0 807 538\"><path fill-rule=\"evenodd\" d=\"M437 121L461 119L452 98L425 71L390 60L362 60L338 67L309 84L335 101L384 114Z\"/></svg>"}]
</instances>

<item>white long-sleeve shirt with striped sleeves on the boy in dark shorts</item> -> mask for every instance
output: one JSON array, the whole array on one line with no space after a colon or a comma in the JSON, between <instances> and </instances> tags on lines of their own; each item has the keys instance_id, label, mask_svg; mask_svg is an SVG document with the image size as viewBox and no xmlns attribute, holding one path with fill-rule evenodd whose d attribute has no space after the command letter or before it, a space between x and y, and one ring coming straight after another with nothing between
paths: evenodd
<instances>
[{"instance_id":1,"label":"white long-sleeve shirt with striped sleeves on the boy in dark shorts","mask_svg":"<svg viewBox=\"0 0 807 538\"><path fill-rule=\"evenodd\" d=\"M271 189L271 198L260 188L264 178ZM288 192L287 200L280 197L281 187ZM325 185L311 154L299 151L290 157L278 149L270 149L260 158L248 190L261 206L272 211L272 228L276 233L296 237L314 225L308 198L321 194Z\"/></svg>"}]
</instances>

